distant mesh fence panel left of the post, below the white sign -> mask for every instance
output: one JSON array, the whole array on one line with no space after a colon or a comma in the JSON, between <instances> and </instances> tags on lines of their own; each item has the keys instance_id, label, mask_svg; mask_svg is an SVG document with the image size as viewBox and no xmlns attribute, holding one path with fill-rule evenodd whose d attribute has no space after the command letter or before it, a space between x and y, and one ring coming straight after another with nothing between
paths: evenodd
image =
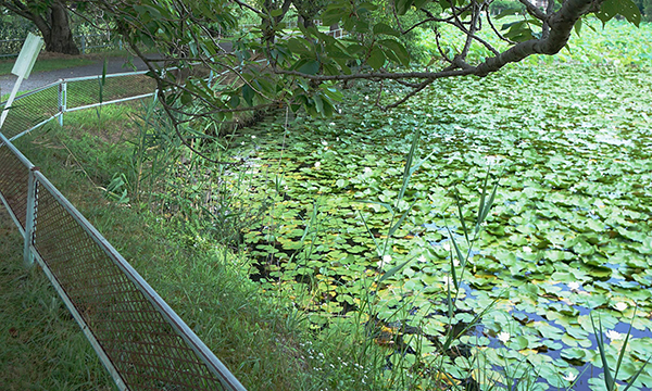
<instances>
[{"instance_id":1,"label":"distant mesh fence panel left of the post, below the white sign","mask_svg":"<svg viewBox=\"0 0 652 391\"><path fill-rule=\"evenodd\" d=\"M17 97L9 108L1 131L11 139L52 118L59 111L58 84L24 93Z\"/></svg>"}]
</instances>

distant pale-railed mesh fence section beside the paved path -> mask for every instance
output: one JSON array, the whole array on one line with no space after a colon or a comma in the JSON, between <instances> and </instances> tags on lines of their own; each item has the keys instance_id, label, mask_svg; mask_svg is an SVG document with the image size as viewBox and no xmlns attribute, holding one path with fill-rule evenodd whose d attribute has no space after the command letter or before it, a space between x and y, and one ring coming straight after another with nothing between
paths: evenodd
<instances>
[{"instance_id":1,"label":"distant pale-railed mesh fence section beside the paved path","mask_svg":"<svg viewBox=\"0 0 652 391\"><path fill-rule=\"evenodd\" d=\"M10 108L2 133L14 141L55 118L63 125L65 113L153 97L156 84L146 73L110 74L103 81L101 76L60 79L23 93Z\"/></svg>"}]
</instances>

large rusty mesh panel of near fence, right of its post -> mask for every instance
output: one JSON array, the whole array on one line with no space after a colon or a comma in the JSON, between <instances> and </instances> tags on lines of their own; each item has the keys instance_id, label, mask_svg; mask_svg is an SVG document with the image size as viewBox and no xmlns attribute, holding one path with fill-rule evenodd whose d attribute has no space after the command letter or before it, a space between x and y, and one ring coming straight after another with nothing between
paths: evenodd
<instances>
[{"instance_id":1,"label":"large rusty mesh panel of near fence, right of its post","mask_svg":"<svg viewBox=\"0 0 652 391\"><path fill-rule=\"evenodd\" d=\"M34 247L129 390L224 390L116 257L37 184Z\"/></svg>"}]
</instances>

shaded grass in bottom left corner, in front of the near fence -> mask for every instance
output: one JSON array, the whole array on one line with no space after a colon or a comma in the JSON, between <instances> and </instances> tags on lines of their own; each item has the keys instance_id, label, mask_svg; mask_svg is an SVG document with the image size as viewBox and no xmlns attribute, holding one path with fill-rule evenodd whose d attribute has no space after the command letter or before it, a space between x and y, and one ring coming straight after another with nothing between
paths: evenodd
<instances>
[{"instance_id":1,"label":"shaded grass in bottom left corner, in front of the near fence","mask_svg":"<svg viewBox=\"0 0 652 391\"><path fill-rule=\"evenodd\" d=\"M0 388L113 390L77 323L38 268L23 267L22 237L0 209Z\"/></svg>"}]
</instances>

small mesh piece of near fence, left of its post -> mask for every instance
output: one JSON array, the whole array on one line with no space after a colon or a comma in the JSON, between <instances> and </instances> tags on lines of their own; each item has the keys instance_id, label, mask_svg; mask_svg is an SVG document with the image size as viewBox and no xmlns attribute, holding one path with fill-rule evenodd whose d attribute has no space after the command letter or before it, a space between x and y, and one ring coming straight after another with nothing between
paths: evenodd
<instances>
[{"instance_id":1,"label":"small mesh piece of near fence, left of its post","mask_svg":"<svg viewBox=\"0 0 652 391\"><path fill-rule=\"evenodd\" d=\"M25 228L29 168L0 141L0 193L21 227Z\"/></svg>"}]
</instances>

